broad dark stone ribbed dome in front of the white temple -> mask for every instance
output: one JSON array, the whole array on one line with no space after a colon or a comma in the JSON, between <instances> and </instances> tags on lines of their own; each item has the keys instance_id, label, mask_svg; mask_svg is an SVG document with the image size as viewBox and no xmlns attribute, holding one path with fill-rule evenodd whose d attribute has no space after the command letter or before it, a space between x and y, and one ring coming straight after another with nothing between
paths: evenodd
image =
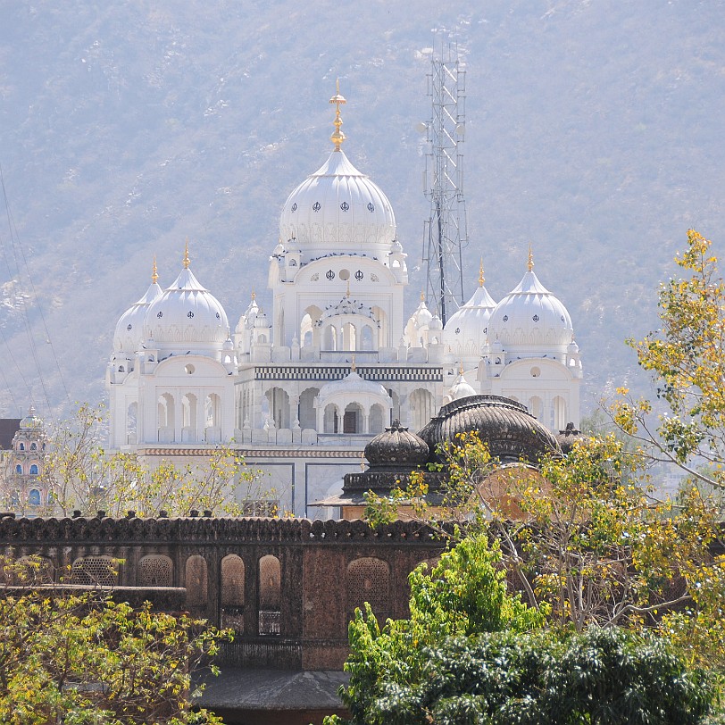
<instances>
[{"instance_id":1,"label":"broad dark stone ribbed dome in front of the white temple","mask_svg":"<svg viewBox=\"0 0 725 725\"><path fill-rule=\"evenodd\" d=\"M454 400L444 405L418 435L435 451L444 441L455 441L456 434L474 430L501 462L522 459L537 464L543 454L559 450L554 435L523 405L500 396ZM432 454L430 460L439 459Z\"/></svg>"}]
</instances>

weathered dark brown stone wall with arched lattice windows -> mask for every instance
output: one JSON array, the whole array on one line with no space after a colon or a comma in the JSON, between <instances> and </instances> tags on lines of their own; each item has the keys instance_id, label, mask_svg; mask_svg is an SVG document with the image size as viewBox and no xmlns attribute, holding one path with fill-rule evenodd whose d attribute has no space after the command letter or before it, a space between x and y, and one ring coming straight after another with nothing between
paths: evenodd
<instances>
[{"instance_id":1,"label":"weathered dark brown stone wall with arched lattice windows","mask_svg":"<svg viewBox=\"0 0 725 725\"><path fill-rule=\"evenodd\" d=\"M148 587L152 601L183 587L187 611L237 631L228 662L282 670L340 669L354 608L406 616L408 574L441 548L412 521L0 519L0 553L43 557L44 582Z\"/></svg>"}]
</instances>

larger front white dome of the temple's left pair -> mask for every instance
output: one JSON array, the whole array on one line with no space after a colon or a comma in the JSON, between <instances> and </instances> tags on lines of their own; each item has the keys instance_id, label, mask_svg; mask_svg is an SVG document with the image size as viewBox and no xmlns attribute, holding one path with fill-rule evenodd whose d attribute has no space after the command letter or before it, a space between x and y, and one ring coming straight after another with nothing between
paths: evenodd
<instances>
[{"instance_id":1,"label":"larger front white dome of the temple's left pair","mask_svg":"<svg viewBox=\"0 0 725 725\"><path fill-rule=\"evenodd\" d=\"M157 346L171 349L221 350L229 337L229 322L219 300L185 268L148 306L144 334Z\"/></svg>"}]
</instances>

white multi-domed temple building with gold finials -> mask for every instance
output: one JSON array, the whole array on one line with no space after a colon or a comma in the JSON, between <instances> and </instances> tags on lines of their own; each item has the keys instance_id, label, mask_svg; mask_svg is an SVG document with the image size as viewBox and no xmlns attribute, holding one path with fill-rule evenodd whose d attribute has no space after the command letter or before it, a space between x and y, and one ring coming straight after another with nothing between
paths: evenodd
<instances>
[{"instance_id":1,"label":"white multi-domed temple building with gold finials","mask_svg":"<svg viewBox=\"0 0 725 725\"><path fill-rule=\"evenodd\" d=\"M187 247L166 289L154 262L151 286L116 325L106 371L112 449L193 462L230 444L269 476L262 488L280 512L312 518L329 516L311 504L341 490L391 421L418 430L444 402L483 393L526 404L554 431L578 427L582 378L569 313L538 281L530 251L500 303L481 271L445 329L424 299L405 321L393 208L342 150L345 99L330 103L334 148L287 197L271 245L271 313L253 292L230 329Z\"/></svg>"}]
</instances>

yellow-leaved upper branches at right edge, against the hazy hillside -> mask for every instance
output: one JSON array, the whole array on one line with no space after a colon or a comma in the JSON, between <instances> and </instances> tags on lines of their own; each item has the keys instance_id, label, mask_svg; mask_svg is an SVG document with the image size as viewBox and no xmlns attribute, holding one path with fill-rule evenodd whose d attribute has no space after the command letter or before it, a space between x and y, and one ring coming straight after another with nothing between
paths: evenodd
<instances>
[{"instance_id":1,"label":"yellow-leaved upper branches at right edge, against the hazy hillside","mask_svg":"<svg viewBox=\"0 0 725 725\"><path fill-rule=\"evenodd\" d=\"M684 276L660 288L660 329L628 341L668 411L654 416L650 401L620 388L612 416L654 460L725 487L725 282L711 247L687 232L687 250L675 260Z\"/></svg>"}]
</instances>

